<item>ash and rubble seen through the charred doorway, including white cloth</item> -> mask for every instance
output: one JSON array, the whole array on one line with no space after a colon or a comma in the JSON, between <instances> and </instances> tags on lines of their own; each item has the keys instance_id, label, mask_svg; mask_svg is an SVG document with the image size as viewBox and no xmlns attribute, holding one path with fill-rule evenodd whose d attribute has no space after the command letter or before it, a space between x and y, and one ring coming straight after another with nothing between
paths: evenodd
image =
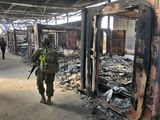
<instances>
[{"instance_id":1,"label":"ash and rubble seen through the charred doorway, including white cloth","mask_svg":"<svg viewBox=\"0 0 160 120\"><path fill-rule=\"evenodd\" d=\"M104 120L125 120L124 113L131 106L133 61L120 56L101 56L100 61L97 116Z\"/></svg>"}]
</instances>

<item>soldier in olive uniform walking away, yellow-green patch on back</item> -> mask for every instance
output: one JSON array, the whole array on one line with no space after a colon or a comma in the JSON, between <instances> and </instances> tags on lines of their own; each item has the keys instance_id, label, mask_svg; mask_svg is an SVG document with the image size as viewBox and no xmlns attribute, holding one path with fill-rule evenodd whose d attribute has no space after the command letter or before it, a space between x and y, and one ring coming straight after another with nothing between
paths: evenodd
<instances>
[{"instance_id":1,"label":"soldier in olive uniform walking away, yellow-green patch on back","mask_svg":"<svg viewBox=\"0 0 160 120\"><path fill-rule=\"evenodd\" d=\"M49 39L45 39L42 48L38 49L31 57L36 66L37 87L41 95L40 103L52 105L51 97L54 94L54 77L58 71L58 53L51 47ZM46 95L44 82L46 84Z\"/></svg>"}]
</instances>

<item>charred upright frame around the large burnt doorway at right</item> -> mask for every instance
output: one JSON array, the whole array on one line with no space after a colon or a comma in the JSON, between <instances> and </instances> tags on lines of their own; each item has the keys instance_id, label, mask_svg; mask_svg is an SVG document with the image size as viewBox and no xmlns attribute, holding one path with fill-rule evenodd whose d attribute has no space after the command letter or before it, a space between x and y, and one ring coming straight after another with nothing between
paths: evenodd
<instances>
[{"instance_id":1,"label":"charred upright frame around the large burnt doorway at right","mask_svg":"<svg viewBox=\"0 0 160 120\"><path fill-rule=\"evenodd\" d=\"M140 119L140 118L141 119L158 119L158 116L159 116L159 108L155 106L159 104L159 98L153 97L153 95L149 95L150 91L158 91L159 89L158 87L157 88L153 87L153 84L154 85L157 84L156 86L159 86L158 78L157 78L158 76L154 74L155 75L154 79L150 78L151 76L154 76L153 69L154 70L159 69L158 63L157 62L155 63L155 60L156 61L158 60L157 59L158 54L156 55L158 48L155 47L155 42L157 41L157 33L158 33L159 17L156 12L158 11L158 9L159 8L155 7L155 4L153 4L152 1L126 2L122 0L122 1L116 1L114 3L110 3L102 8L94 8L94 9L91 8L91 9L85 9L83 11L83 25L82 25L83 27L82 28L83 28L83 33L86 32L87 34L82 35L82 38L83 38L82 40L84 41L82 41L83 59L81 61L82 62L81 72L83 74L81 74L81 84L82 84L82 88L87 89L87 91L90 91L91 94L93 93L98 94L98 91L100 90L98 86L99 86L99 82L101 82L99 77L100 75L99 59L100 59L100 49L101 49L100 47L101 18L104 15L109 15L109 16L116 16L120 18L134 19L136 22L134 27L136 32L136 36L135 36L136 42L135 42L134 64L133 64L132 90L130 92L131 104L132 104L131 114L130 114L130 116L132 116L131 119ZM123 27L123 23L121 22L119 23L120 23L120 27ZM118 21L116 25L117 24L118 24ZM122 30L124 30L124 28L122 28ZM107 38L107 42L108 42L107 52L109 53L109 56L112 57L113 54L123 55L123 54L120 54L120 51L122 51L121 53L124 53L124 45L121 45L125 43L123 42L123 38L124 38L123 32L120 33L120 30L111 31L110 29L108 31L109 31L108 32L109 37ZM126 35L126 38L127 38L127 35ZM117 42L115 40L117 40ZM113 46L113 42L117 43L117 45L114 44ZM119 49L114 52L115 47L118 47L118 46L121 47L122 49ZM108 59L106 60L108 61ZM157 96L156 92L154 96ZM150 99L150 102L147 99L148 100ZM113 107L113 104L111 104L111 108L112 107ZM155 108L154 110L157 111L156 113L152 111L153 108ZM150 111L150 114L149 114L149 111Z\"/></svg>"}]
</instances>

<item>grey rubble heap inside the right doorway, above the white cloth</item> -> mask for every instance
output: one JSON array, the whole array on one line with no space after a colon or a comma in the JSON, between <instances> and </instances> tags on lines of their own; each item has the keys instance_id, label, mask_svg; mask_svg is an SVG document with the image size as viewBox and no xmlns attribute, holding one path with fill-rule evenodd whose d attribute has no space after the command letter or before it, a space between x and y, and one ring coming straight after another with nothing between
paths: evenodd
<instances>
[{"instance_id":1,"label":"grey rubble heap inside the right doorway, above the white cloth","mask_svg":"<svg viewBox=\"0 0 160 120\"><path fill-rule=\"evenodd\" d=\"M131 81L133 71L132 60L120 56L114 56L112 58L101 56L100 61L101 78L106 81L115 81L122 84Z\"/></svg>"}]
</instances>

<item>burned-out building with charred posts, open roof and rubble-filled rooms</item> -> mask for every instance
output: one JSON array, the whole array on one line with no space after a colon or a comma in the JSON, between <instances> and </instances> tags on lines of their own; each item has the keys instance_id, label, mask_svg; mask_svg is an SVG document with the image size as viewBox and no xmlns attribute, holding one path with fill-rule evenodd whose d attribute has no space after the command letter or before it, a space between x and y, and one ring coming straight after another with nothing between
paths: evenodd
<instances>
[{"instance_id":1,"label":"burned-out building with charred posts, open roof and rubble-filled rooms","mask_svg":"<svg viewBox=\"0 0 160 120\"><path fill-rule=\"evenodd\" d=\"M92 100L97 119L160 119L159 1L1 0L0 5L4 24L13 27L6 34L8 50L29 61L49 38L60 53L58 84ZM81 19L70 23L73 16ZM65 23L58 24L61 20ZM15 21L26 28L15 28Z\"/></svg>"}]
</instances>

